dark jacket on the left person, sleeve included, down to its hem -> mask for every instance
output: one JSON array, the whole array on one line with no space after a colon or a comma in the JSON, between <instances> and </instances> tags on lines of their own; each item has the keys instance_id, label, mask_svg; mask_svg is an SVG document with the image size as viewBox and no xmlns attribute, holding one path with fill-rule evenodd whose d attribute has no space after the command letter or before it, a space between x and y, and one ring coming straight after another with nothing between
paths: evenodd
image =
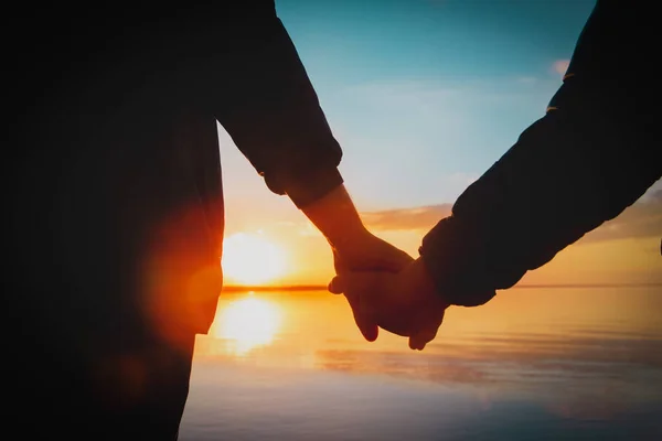
<instances>
[{"instance_id":1,"label":"dark jacket on the left person, sleeve included, down to its hem","mask_svg":"<svg viewBox=\"0 0 662 441\"><path fill-rule=\"evenodd\" d=\"M8 193L15 315L30 326L83 346L207 331L222 282L216 120L298 206L342 183L274 2L209 3L14 17Z\"/></svg>"}]
</instances>

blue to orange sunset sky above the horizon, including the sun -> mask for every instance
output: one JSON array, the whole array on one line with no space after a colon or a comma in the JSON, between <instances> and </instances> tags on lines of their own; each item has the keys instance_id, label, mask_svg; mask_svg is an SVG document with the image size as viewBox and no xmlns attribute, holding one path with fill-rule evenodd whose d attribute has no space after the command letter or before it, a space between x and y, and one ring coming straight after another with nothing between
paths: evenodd
<instances>
[{"instance_id":1,"label":"blue to orange sunset sky above the horizon, including the sun","mask_svg":"<svg viewBox=\"0 0 662 441\"><path fill-rule=\"evenodd\" d=\"M366 225L414 257L467 185L544 115L594 4L276 1ZM323 237L218 128L226 283L325 284L333 268ZM662 283L661 190L521 283ZM244 261L260 270L247 273Z\"/></svg>"}]
</instances>

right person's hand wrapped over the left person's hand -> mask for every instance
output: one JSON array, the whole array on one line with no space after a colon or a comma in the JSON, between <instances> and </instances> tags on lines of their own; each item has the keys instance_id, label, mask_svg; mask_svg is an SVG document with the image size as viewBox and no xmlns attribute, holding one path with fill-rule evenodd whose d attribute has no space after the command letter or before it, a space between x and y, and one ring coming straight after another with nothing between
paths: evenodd
<instances>
[{"instance_id":1,"label":"right person's hand wrapped over the left person's hand","mask_svg":"<svg viewBox=\"0 0 662 441\"><path fill-rule=\"evenodd\" d=\"M345 294L355 318L408 336L409 347L419 351L436 337L448 306L420 260L397 273L345 271L331 281L329 290Z\"/></svg>"}]
</instances>

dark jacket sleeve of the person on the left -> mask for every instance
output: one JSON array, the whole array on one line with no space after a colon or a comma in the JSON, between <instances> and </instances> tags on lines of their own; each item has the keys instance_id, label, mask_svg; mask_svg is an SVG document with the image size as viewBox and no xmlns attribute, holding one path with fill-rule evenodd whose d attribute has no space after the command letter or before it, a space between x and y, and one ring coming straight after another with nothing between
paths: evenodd
<instances>
[{"instance_id":1,"label":"dark jacket sleeve of the person on the left","mask_svg":"<svg viewBox=\"0 0 662 441\"><path fill-rule=\"evenodd\" d=\"M343 181L342 151L274 2L218 42L214 114L277 194L302 207Z\"/></svg>"}]
</instances>

